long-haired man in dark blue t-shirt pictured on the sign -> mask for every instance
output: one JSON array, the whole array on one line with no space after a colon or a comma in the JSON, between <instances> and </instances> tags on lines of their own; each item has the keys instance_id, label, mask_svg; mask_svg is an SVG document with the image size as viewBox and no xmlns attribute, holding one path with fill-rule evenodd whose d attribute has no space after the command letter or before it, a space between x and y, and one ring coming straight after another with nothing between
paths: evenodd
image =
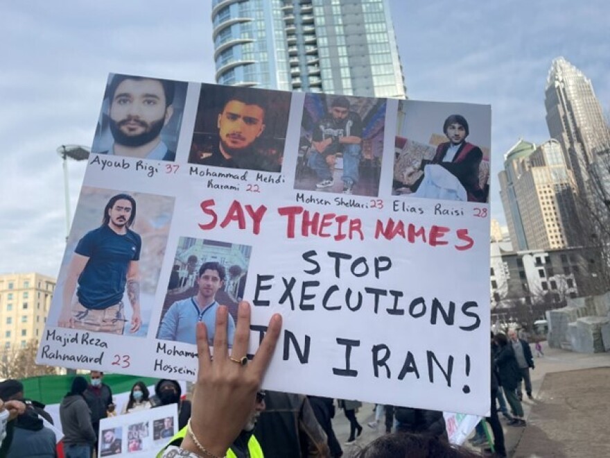
<instances>
[{"instance_id":1,"label":"long-haired man in dark blue t-shirt pictured on the sign","mask_svg":"<svg viewBox=\"0 0 610 458\"><path fill-rule=\"evenodd\" d=\"M135 217L134 198L116 194L104 208L102 225L78 241L63 289L60 328L123 334L126 287L133 309L130 332L139 330L142 239L130 230Z\"/></svg>"}]
</instances>

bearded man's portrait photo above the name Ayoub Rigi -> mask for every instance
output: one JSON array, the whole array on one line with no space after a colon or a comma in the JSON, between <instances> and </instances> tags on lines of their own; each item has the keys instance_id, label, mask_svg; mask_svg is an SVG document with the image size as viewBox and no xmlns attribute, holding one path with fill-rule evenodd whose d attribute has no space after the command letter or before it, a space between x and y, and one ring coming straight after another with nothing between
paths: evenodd
<instances>
[{"instance_id":1,"label":"bearded man's portrait photo above the name Ayoub Rigi","mask_svg":"<svg viewBox=\"0 0 610 458\"><path fill-rule=\"evenodd\" d=\"M92 153L175 160L188 83L110 74Z\"/></svg>"}]
</instances>

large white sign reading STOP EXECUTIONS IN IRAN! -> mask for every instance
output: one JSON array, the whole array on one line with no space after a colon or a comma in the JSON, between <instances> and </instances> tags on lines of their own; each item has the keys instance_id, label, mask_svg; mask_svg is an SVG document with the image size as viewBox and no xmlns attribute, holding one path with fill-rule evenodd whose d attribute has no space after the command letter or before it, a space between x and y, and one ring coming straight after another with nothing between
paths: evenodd
<instances>
[{"instance_id":1,"label":"large white sign reading STOP EXECUTIONS IN IRAN!","mask_svg":"<svg viewBox=\"0 0 610 458\"><path fill-rule=\"evenodd\" d=\"M169 83L109 78L37 361L195 380L245 299L265 388L485 414L489 106Z\"/></svg>"}]
</instances>

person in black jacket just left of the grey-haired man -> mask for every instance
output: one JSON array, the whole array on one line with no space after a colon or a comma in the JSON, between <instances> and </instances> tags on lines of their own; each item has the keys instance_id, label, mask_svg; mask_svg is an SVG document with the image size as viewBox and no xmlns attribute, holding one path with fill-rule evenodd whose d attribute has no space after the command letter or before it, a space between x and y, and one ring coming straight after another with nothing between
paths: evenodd
<instances>
[{"instance_id":1,"label":"person in black jacket just left of the grey-haired man","mask_svg":"<svg viewBox=\"0 0 610 458\"><path fill-rule=\"evenodd\" d=\"M509 345L508 339L504 334L496 334L494 337L498 344L499 350L496 353L495 362L500 375L500 384L504 387L506 400L508 401L513 420L509 423L512 426L525 426L523 418L523 406L516 395L516 389L521 382L521 370L514 356L514 350Z\"/></svg>"}]
</instances>

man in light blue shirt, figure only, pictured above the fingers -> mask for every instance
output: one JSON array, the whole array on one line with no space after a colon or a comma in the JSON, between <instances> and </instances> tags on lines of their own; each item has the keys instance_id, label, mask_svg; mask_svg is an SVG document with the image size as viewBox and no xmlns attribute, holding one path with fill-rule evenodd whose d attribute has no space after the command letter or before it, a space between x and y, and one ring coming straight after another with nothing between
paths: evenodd
<instances>
[{"instance_id":1,"label":"man in light blue shirt, figure only, pictured above the fingers","mask_svg":"<svg viewBox=\"0 0 610 458\"><path fill-rule=\"evenodd\" d=\"M196 280L196 296L177 300L169 307L161 321L157 339L193 343L195 345L195 323L202 321L207 328L209 344L214 342L214 325L216 323L216 293L225 286L225 268L218 262L204 262L199 269ZM229 347L233 346L235 321L229 314L227 339Z\"/></svg>"}]
</instances>

